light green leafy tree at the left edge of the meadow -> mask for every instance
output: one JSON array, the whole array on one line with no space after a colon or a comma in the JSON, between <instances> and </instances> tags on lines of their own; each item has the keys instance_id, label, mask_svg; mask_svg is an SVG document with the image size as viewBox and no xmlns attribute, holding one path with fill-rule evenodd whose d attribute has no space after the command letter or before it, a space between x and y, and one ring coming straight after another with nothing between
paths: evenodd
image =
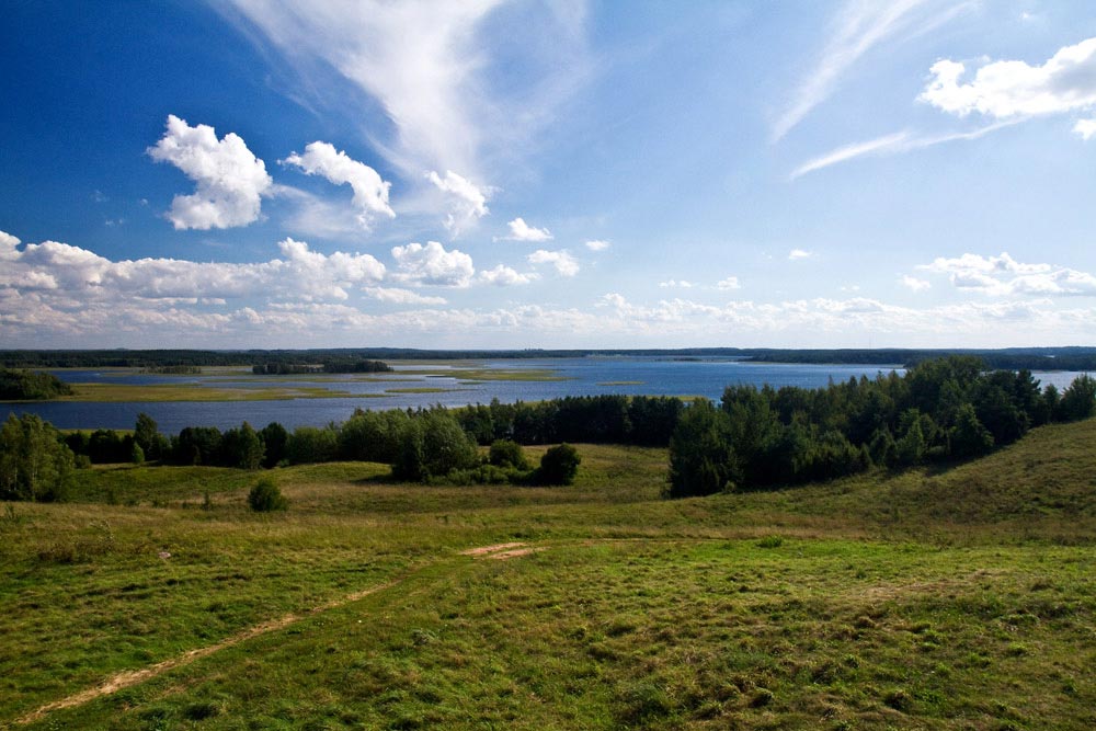
<instances>
[{"instance_id":1,"label":"light green leafy tree at the left edge of the meadow","mask_svg":"<svg viewBox=\"0 0 1096 731\"><path fill-rule=\"evenodd\" d=\"M72 468L71 449L38 416L10 414L0 426L0 500L64 500Z\"/></svg>"}]
</instances>

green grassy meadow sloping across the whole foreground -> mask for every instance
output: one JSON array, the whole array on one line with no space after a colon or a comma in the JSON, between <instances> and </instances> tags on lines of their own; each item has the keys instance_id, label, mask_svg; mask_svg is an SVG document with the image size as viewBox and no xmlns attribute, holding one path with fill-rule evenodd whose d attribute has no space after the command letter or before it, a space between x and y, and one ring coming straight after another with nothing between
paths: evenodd
<instances>
[{"instance_id":1,"label":"green grassy meadow sloping across the whole foreground","mask_svg":"<svg viewBox=\"0 0 1096 731\"><path fill-rule=\"evenodd\" d=\"M82 470L0 506L0 727L1096 728L1094 445L673 502L660 449L302 466L266 515L255 473Z\"/></svg>"}]
</instances>

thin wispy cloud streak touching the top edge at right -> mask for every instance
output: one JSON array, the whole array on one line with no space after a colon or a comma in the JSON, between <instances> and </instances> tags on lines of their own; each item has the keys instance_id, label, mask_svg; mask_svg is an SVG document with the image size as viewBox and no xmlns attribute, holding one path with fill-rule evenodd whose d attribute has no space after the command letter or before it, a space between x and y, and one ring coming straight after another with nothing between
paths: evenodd
<instances>
[{"instance_id":1,"label":"thin wispy cloud streak touching the top edge at right","mask_svg":"<svg viewBox=\"0 0 1096 731\"><path fill-rule=\"evenodd\" d=\"M791 103L773 127L773 140L779 140L798 125L811 110L837 88L842 76L861 56L900 33L925 33L970 7L970 2L936 0L848 0L835 14L830 36L818 62L802 80Z\"/></svg>"}]
</instances>

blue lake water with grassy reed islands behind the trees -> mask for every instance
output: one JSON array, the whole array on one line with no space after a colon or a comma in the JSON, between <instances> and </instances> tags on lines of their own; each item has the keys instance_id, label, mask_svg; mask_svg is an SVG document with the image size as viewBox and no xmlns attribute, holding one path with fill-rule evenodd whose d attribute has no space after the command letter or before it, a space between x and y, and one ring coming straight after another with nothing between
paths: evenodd
<instances>
[{"instance_id":1,"label":"blue lake water with grassy reed islands behind the trees","mask_svg":"<svg viewBox=\"0 0 1096 731\"><path fill-rule=\"evenodd\" d=\"M488 403L493 398L503 402L539 401L564 396L592 396L596 393L624 393L629 396L706 396L719 399L723 388L733 384L769 384L775 387L801 386L814 388L835 381L874 378L880 372L898 370L886 366L867 365L795 365L774 363L742 363L732 359L673 361L657 357L585 357L543 361L484 361L473 366L393 366L395 374L386 374L383 381L354 380L353 376L329 376L321 380L267 379L242 373L239 377L218 374L214 376L160 376L132 372L60 370L57 375L71 382L115 384L193 384L208 387L263 388L263 387L327 387L349 391L358 397L332 399L293 399L287 401L215 401L162 403L9 403L0 404L3 411L31 412L41 415L59 429L133 429L137 414L152 416L167 434L178 433L184 426L238 426L247 420L259 427L272 421L287 427L301 425L322 426L329 422L345 421L356 408L403 409L441 403L447 407L468 403ZM496 380L476 384L459 382L452 375L457 368L550 369L567 380L514 381ZM432 375L400 374L400 370L434 372ZM1068 372L1037 373L1043 386L1054 384L1065 388L1080 374ZM626 382L620 382L626 381ZM627 382L635 381L635 382ZM385 393L392 388L444 388L437 393ZM374 395L374 396L368 396Z\"/></svg>"}]
</instances>

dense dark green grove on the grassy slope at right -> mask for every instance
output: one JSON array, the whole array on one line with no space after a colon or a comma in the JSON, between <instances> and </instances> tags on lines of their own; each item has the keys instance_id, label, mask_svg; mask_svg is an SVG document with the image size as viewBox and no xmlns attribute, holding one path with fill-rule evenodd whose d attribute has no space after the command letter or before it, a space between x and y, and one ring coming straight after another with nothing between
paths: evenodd
<instances>
[{"instance_id":1,"label":"dense dark green grove on the grassy slope at right","mask_svg":"<svg viewBox=\"0 0 1096 731\"><path fill-rule=\"evenodd\" d=\"M1032 426L1087 419L1096 379L1062 392L1028 370L987 370L973 356L926 361L906 375L827 388L732 386L700 401L670 442L671 496L825 480L872 466L961 459L1011 444Z\"/></svg>"}]
</instances>

